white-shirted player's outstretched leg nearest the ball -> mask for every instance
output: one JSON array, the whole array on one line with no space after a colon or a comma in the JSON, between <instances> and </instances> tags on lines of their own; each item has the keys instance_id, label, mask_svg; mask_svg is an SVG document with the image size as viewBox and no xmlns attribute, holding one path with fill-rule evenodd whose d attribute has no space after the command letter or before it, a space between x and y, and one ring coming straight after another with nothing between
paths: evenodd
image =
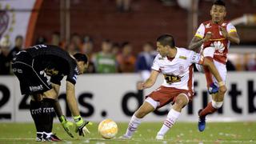
<instances>
[{"instance_id":1,"label":"white-shirted player's outstretched leg nearest the ball","mask_svg":"<svg viewBox=\"0 0 256 144\"><path fill-rule=\"evenodd\" d=\"M154 106L152 103L154 103ZM140 106L134 115L130 118L126 134L123 135L123 138L131 138L134 132L137 130L138 126L141 124L142 118L144 118L146 114L154 111L156 106L157 102L155 102L152 98L146 98L146 101L143 102L142 106Z\"/></svg>"}]
</instances>

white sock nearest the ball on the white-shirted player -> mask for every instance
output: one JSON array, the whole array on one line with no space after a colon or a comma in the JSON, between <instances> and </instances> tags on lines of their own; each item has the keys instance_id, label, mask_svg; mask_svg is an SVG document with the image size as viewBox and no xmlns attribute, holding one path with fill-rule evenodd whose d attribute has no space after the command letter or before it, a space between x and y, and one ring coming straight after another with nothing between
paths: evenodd
<instances>
[{"instance_id":1,"label":"white sock nearest the ball on the white-shirted player","mask_svg":"<svg viewBox=\"0 0 256 144\"><path fill-rule=\"evenodd\" d=\"M133 115L130 119L130 123L126 130L126 136L131 137L134 132L137 130L139 124L141 124L142 118L137 118L135 115Z\"/></svg>"}]
</instances>

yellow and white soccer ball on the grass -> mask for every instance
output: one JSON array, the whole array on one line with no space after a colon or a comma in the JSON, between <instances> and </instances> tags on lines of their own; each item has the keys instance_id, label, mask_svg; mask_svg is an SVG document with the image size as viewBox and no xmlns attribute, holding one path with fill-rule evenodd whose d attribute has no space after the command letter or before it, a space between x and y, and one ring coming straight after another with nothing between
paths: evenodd
<instances>
[{"instance_id":1,"label":"yellow and white soccer ball on the grass","mask_svg":"<svg viewBox=\"0 0 256 144\"><path fill-rule=\"evenodd\" d=\"M118 125L111 119L105 119L98 124L98 133L102 135L102 138L114 138L118 134Z\"/></svg>"}]
</instances>

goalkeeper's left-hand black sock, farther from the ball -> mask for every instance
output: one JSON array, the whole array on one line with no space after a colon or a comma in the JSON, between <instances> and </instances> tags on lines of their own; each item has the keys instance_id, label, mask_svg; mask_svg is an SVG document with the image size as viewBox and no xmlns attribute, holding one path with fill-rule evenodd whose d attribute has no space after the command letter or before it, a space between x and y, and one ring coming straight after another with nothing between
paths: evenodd
<instances>
[{"instance_id":1,"label":"goalkeeper's left-hand black sock, farther from the ball","mask_svg":"<svg viewBox=\"0 0 256 144\"><path fill-rule=\"evenodd\" d=\"M34 125L37 132L43 132L43 122L42 122L42 102L30 100L30 114L34 120Z\"/></svg>"}]
</instances>

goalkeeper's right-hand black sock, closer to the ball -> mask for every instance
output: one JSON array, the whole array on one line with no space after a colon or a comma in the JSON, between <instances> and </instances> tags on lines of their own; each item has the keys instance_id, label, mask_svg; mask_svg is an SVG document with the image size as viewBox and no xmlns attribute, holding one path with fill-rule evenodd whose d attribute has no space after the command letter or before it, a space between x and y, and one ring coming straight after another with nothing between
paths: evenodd
<instances>
[{"instance_id":1,"label":"goalkeeper's right-hand black sock, closer to the ball","mask_svg":"<svg viewBox=\"0 0 256 144\"><path fill-rule=\"evenodd\" d=\"M42 121L43 121L43 131L46 133L51 133L53 129L54 122L54 99L43 98L42 100Z\"/></svg>"}]
</instances>

